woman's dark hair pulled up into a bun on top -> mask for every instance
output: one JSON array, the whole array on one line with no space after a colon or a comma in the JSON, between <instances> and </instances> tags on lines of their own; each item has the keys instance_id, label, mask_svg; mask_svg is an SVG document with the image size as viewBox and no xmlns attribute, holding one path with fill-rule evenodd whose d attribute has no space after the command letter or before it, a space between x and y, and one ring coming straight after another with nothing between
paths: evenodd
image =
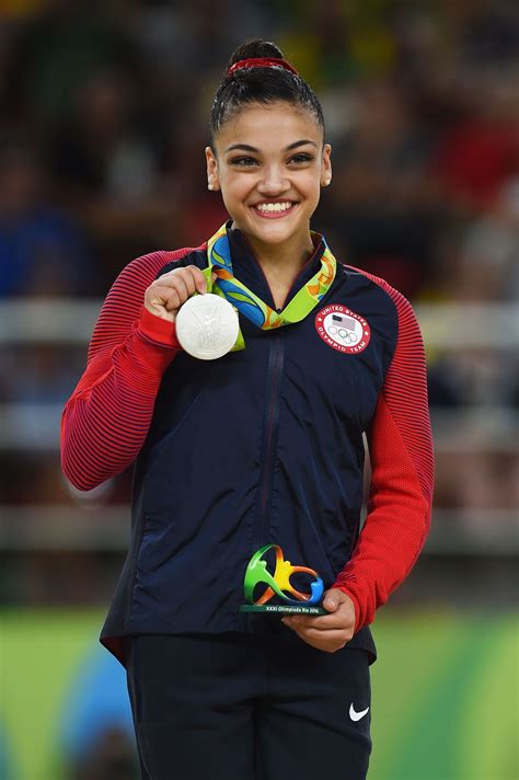
<instances>
[{"instance_id":1,"label":"woman's dark hair pulled up into a bun on top","mask_svg":"<svg viewBox=\"0 0 519 780\"><path fill-rule=\"evenodd\" d=\"M273 43L253 38L242 44L232 54L227 70L241 59L275 57L282 59L281 50ZM239 68L226 76L217 89L211 106L210 140L215 151L215 137L231 116L247 103L276 103L285 101L310 111L324 134L324 117L321 103L309 84L282 67Z\"/></svg>"}]
</instances>

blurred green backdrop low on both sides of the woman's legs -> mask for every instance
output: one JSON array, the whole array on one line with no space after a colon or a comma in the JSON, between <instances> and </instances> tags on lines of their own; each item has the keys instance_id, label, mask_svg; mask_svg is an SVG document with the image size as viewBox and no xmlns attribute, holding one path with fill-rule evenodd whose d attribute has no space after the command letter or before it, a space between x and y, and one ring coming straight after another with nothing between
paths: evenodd
<instances>
[{"instance_id":1,"label":"blurred green backdrop low on both sides of the woman's legs","mask_svg":"<svg viewBox=\"0 0 519 780\"><path fill-rule=\"evenodd\" d=\"M1 613L0 715L13 780L65 779L58 721L103 617ZM519 777L516 613L392 608L381 610L373 635L369 780Z\"/></svg>"}]
</instances>

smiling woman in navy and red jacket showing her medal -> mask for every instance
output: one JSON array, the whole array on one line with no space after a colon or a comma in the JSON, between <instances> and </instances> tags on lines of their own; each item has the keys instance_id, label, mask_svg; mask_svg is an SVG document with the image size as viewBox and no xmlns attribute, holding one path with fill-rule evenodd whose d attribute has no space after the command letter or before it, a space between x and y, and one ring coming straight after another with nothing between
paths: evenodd
<instances>
[{"instance_id":1,"label":"smiling woman in navy and red jacket showing her medal","mask_svg":"<svg viewBox=\"0 0 519 780\"><path fill-rule=\"evenodd\" d=\"M143 778L360 780L368 626L429 526L422 339L402 295L310 230L331 147L318 99L273 44L232 56L206 158L229 221L123 269L64 412L77 487L135 461L131 542L101 641L127 668ZM217 359L175 333L208 287L239 317ZM265 546L322 578L324 615L240 611Z\"/></svg>"}]
</instances>

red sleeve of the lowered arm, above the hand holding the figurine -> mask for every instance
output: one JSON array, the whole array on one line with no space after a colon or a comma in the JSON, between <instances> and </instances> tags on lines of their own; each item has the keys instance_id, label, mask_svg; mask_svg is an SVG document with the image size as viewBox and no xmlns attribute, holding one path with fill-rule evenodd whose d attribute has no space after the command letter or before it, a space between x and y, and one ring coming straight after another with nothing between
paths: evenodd
<instances>
[{"instance_id":1,"label":"red sleeve of the lowered arm, above the hand holding the figurine","mask_svg":"<svg viewBox=\"0 0 519 780\"><path fill-rule=\"evenodd\" d=\"M373 621L376 609L415 564L429 530L434 485L426 364L418 323L404 296L382 279L370 278L393 299L399 335L367 432L372 469L368 516L351 559L333 585L353 599L356 631Z\"/></svg>"}]
</instances>

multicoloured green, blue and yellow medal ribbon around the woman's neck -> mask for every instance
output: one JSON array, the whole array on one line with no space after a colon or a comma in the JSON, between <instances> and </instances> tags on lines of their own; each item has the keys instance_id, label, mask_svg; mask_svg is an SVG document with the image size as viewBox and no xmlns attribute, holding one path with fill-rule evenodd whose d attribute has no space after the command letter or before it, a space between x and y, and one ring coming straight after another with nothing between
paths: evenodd
<instances>
[{"instance_id":1,"label":"multicoloured green, blue and yellow medal ribbon around the woman's neck","mask_svg":"<svg viewBox=\"0 0 519 780\"><path fill-rule=\"evenodd\" d=\"M215 272L217 279L210 291L226 298L238 311L262 330L281 328L303 320L326 295L337 271L337 261L324 241L321 268L301 287L285 309L277 312L234 276L226 225L222 225L207 242L207 262L208 267L203 273L208 289L211 288L211 272ZM240 331L232 351L243 349L245 343Z\"/></svg>"}]
</instances>

